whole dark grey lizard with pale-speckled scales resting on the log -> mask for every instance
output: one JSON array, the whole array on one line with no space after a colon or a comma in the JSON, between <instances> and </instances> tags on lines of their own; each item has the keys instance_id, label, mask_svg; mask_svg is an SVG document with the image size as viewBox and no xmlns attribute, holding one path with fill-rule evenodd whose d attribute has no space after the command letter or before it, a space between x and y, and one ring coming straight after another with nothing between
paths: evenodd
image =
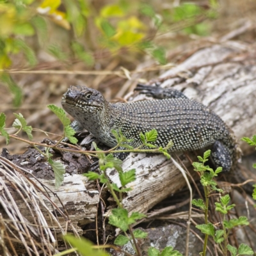
<instances>
[{"instance_id":1,"label":"whole dark grey lizard with pale-speckled scales resting on the log","mask_svg":"<svg viewBox=\"0 0 256 256\"><path fill-rule=\"evenodd\" d=\"M112 129L132 138L132 147L141 145L140 132L156 129L154 144L158 147L166 146L170 140L170 152L212 146L214 165L223 167L224 172L230 170L239 150L234 134L218 115L177 90L142 84L136 90L158 99L110 103L97 90L70 86L61 104L75 118L73 127L83 127L109 147L116 145Z\"/></svg>"}]
</instances>

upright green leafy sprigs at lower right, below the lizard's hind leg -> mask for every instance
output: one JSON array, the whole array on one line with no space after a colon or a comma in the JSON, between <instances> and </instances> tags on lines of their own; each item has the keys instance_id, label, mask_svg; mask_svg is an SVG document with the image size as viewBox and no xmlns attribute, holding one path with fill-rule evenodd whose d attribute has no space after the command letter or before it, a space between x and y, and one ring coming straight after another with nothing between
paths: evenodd
<instances>
[{"instance_id":1,"label":"upright green leafy sprigs at lower right, below the lizard's hind leg","mask_svg":"<svg viewBox=\"0 0 256 256\"><path fill-rule=\"evenodd\" d=\"M239 225L249 225L248 219L245 216L241 216L238 219L233 218L231 220L227 219L228 211L234 208L234 204L230 204L230 196L220 196L220 202L215 202L215 211L221 213L221 226L222 228L216 230L216 227L209 222L208 220L208 211L209 211L209 198L212 195L216 195L216 191L221 193L222 190L216 188L217 184L213 180L214 177L218 176L218 173L222 171L221 167L218 167L216 171L212 170L209 166L205 165L205 162L208 161L209 156L211 155L211 150L207 150L204 153L204 157L198 156L199 162L193 163L196 172L200 173L200 182L202 186L204 186L204 196L205 202L202 199L195 200L193 199L192 204L196 207L199 207L205 216L205 223L202 225L196 225L203 234L205 234L204 239L204 248L202 255L206 255L206 247L208 237L212 236L214 242L220 246L223 255L227 255L227 251L229 251L232 255L252 255L253 250L246 244L240 244L238 250L228 244L228 236L232 228L237 227Z\"/></svg>"}]
</instances>

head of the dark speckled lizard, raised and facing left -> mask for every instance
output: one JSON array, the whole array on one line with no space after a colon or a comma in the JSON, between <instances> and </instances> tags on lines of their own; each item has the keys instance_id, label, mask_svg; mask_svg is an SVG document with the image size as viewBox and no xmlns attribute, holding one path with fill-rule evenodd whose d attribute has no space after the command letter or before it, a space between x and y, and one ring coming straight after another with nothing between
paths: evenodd
<instances>
[{"instance_id":1,"label":"head of the dark speckled lizard, raised and facing left","mask_svg":"<svg viewBox=\"0 0 256 256\"><path fill-rule=\"evenodd\" d=\"M82 113L93 115L101 111L106 102L99 91L79 85L70 86L61 99L61 105L65 111L76 119Z\"/></svg>"}]
</instances>

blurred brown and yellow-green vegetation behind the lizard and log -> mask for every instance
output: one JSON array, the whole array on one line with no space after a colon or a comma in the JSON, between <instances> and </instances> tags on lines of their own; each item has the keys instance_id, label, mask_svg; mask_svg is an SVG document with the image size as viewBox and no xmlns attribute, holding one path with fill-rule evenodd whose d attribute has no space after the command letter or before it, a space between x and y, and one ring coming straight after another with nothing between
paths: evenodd
<instances>
[{"instance_id":1,"label":"blurred brown and yellow-green vegetation behind the lizard and log","mask_svg":"<svg viewBox=\"0 0 256 256\"><path fill-rule=\"evenodd\" d=\"M0 113L7 128L22 113L33 128L62 134L47 104L61 106L71 84L120 100L223 38L254 44L255 21L255 0L0 0ZM8 150L24 147L12 140Z\"/></svg>"}]
</instances>

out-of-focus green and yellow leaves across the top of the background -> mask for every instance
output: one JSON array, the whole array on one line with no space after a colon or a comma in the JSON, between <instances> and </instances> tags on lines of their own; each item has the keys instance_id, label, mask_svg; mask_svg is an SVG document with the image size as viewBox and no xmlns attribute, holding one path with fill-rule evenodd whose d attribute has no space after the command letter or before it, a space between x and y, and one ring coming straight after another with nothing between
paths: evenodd
<instances>
[{"instance_id":1,"label":"out-of-focus green and yellow leaves across the top of the background","mask_svg":"<svg viewBox=\"0 0 256 256\"><path fill-rule=\"evenodd\" d=\"M4 26L0 28L0 70L10 68L11 56L20 53L25 56L28 67L37 64L34 52L37 47L31 49L29 46L31 36L38 38L41 48L65 63L75 56L92 67L95 56L99 55L97 52L104 48L116 56L123 49L134 56L150 54L164 65L167 62L165 49L154 42L152 31L165 33L173 25L184 23L180 30L185 33L206 35L210 29L207 22L202 22L202 17L215 18L218 1L211 0L209 8L196 3L181 3L173 8L158 7L156 9L154 3L145 1L130 3L123 0L107 1L97 7L90 1L81 0L1 1L0 24ZM61 33L70 40L52 36L58 33L57 26L52 26L52 23L63 28ZM36 45L34 41L33 45ZM8 81L4 83L10 86ZM15 106L19 106L21 99L17 99L15 90L10 88L10 91L15 95Z\"/></svg>"}]
</instances>

